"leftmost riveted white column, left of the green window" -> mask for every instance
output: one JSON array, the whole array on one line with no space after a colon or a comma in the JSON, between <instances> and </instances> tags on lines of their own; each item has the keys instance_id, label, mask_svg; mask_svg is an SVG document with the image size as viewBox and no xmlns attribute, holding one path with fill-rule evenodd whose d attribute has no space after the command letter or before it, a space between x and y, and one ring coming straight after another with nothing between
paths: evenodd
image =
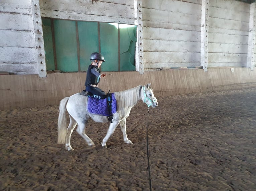
<instances>
[{"instance_id":1,"label":"leftmost riveted white column, left of the green window","mask_svg":"<svg viewBox=\"0 0 256 191\"><path fill-rule=\"evenodd\" d=\"M44 78L46 77L46 65L45 65L43 29L42 29L42 19L41 19L40 7L39 7L39 0L31 0L31 5L32 5L32 14L33 14L33 22L34 22L38 75L40 78Z\"/></svg>"}]
</instances>

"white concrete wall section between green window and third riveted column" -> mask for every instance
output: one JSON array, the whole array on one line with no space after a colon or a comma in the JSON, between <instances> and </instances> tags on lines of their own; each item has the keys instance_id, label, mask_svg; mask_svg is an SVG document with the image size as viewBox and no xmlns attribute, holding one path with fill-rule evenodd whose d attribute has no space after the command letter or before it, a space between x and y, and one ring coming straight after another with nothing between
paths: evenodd
<instances>
[{"instance_id":1,"label":"white concrete wall section between green window and third riveted column","mask_svg":"<svg viewBox=\"0 0 256 191\"><path fill-rule=\"evenodd\" d=\"M201 0L143 1L144 69L200 66Z\"/></svg>"}]
</instances>

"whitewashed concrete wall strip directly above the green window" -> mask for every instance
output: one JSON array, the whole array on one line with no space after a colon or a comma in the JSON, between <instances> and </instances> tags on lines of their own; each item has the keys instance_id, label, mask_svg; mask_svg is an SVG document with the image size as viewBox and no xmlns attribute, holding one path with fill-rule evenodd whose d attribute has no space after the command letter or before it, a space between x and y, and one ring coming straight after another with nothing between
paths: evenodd
<instances>
[{"instance_id":1,"label":"whitewashed concrete wall strip directly above the green window","mask_svg":"<svg viewBox=\"0 0 256 191\"><path fill-rule=\"evenodd\" d=\"M133 0L40 0L40 8L42 17L136 24Z\"/></svg>"}]
</instances>

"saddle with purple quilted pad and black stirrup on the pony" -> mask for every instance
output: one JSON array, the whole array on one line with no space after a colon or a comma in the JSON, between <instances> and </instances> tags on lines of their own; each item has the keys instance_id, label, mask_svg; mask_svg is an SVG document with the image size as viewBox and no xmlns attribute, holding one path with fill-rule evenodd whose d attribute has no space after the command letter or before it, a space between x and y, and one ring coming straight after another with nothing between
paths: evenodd
<instances>
[{"instance_id":1,"label":"saddle with purple quilted pad and black stirrup on the pony","mask_svg":"<svg viewBox=\"0 0 256 191\"><path fill-rule=\"evenodd\" d=\"M87 111L96 115L108 116L108 120L113 122L113 114L117 112L117 103L114 93L107 94L107 98L98 99L98 95L93 95L90 92L83 90L81 95L88 96L87 99Z\"/></svg>"}]
</instances>

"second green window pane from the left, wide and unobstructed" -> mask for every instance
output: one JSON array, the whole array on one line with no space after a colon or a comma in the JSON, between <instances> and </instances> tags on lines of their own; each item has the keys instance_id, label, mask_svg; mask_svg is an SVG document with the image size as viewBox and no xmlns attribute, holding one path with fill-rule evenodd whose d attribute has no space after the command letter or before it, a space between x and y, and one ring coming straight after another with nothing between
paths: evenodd
<instances>
[{"instance_id":1,"label":"second green window pane from the left, wide and unobstructed","mask_svg":"<svg viewBox=\"0 0 256 191\"><path fill-rule=\"evenodd\" d=\"M54 38L57 69L65 72L77 72L76 22L54 20Z\"/></svg>"}]
</instances>

